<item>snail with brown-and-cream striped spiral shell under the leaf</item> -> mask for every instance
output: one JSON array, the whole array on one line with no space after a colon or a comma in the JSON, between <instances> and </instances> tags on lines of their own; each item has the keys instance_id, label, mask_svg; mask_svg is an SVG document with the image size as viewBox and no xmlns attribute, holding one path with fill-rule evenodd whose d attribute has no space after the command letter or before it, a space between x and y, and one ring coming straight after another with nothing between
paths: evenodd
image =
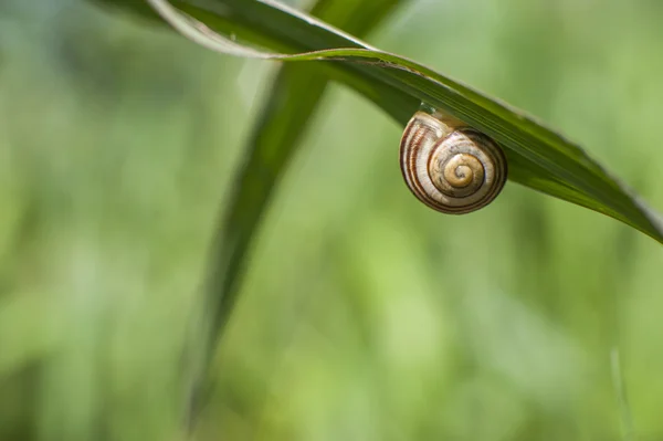
<instances>
[{"instance_id":1,"label":"snail with brown-and-cream striped spiral shell under the leaf","mask_svg":"<svg viewBox=\"0 0 663 441\"><path fill-rule=\"evenodd\" d=\"M439 112L417 112L403 133L406 183L430 208L453 214L491 203L506 182L506 157L486 135Z\"/></svg>"}]
</instances>

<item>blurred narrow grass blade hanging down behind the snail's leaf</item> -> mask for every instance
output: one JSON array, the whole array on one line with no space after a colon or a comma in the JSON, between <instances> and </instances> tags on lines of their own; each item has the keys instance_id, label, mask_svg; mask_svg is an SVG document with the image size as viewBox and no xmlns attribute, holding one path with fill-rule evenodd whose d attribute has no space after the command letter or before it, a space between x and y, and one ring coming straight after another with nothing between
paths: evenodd
<instances>
[{"instance_id":1,"label":"blurred narrow grass blade hanging down behind the snail's leaf","mask_svg":"<svg viewBox=\"0 0 663 441\"><path fill-rule=\"evenodd\" d=\"M366 34L391 11L409 0L320 0L312 14ZM239 293L245 255L270 199L299 146L328 85L328 75L308 64L283 66L251 133L244 164L238 170L234 191L221 221L204 293L204 311L211 315L202 348L202 369L222 336ZM196 381L197 384L197 381ZM193 387L196 388L196 384ZM207 388L206 388L207 389ZM198 392L193 392L196 396ZM193 412L200 406L193 398ZM204 401L204 398L202 398Z\"/></svg>"}]
</instances>

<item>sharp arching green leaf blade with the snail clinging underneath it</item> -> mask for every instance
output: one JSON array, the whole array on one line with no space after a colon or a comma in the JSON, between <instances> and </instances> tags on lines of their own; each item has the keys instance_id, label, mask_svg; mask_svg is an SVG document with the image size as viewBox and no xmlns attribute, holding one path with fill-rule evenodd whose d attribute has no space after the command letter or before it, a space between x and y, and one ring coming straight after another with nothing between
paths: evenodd
<instances>
[{"instance_id":1,"label":"sharp arching green leaf blade with the snail clinging underneath it","mask_svg":"<svg viewBox=\"0 0 663 441\"><path fill-rule=\"evenodd\" d=\"M218 52L281 61L333 61L335 80L347 83L401 124L420 103L440 108L502 145L511 180L610 216L663 243L657 213L579 146L497 99L271 0L190 0L173 3L178 9L165 0L149 1L179 32ZM240 40L224 36L231 34Z\"/></svg>"}]
</instances>

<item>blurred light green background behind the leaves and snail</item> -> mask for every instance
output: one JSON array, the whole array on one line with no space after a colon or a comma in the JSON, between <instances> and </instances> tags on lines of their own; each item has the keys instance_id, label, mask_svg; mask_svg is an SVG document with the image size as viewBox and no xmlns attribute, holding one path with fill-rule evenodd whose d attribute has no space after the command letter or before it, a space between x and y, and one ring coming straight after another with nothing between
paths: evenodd
<instances>
[{"instance_id":1,"label":"blurred light green background behind the leaves and snail","mask_svg":"<svg viewBox=\"0 0 663 441\"><path fill-rule=\"evenodd\" d=\"M662 22L655 0L419 0L367 40L561 129L661 210ZM81 0L0 3L0 440L187 438L182 347L276 69ZM400 133L326 96L193 439L663 439L660 244L513 183L433 212Z\"/></svg>"}]
</instances>

